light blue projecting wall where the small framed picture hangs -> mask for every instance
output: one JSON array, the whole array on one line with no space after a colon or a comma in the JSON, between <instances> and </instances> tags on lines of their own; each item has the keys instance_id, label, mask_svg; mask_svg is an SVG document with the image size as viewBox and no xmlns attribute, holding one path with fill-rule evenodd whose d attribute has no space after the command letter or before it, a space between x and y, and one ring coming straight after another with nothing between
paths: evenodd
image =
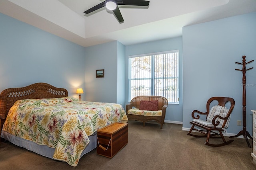
<instances>
[{"instance_id":1,"label":"light blue projecting wall where the small framed picture hangs","mask_svg":"<svg viewBox=\"0 0 256 170\"><path fill-rule=\"evenodd\" d=\"M118 41L86 47L85 100L124 105L124 50ZM104 69L104 78L96 70Z\"/></svg>"}]
</instances>

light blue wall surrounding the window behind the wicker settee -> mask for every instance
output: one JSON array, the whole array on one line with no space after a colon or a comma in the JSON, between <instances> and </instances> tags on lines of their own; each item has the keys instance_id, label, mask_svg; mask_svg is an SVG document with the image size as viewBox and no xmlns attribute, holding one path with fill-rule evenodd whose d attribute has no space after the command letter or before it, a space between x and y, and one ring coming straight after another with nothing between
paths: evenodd
<instances>
[{"instance_id":1,"label":"light blue wall surrounding the window behind the wicker settee","mask_svg":"<svg viewBox=\"0 0 256 170\"><path fill-rule=\"evenodd\" d=\"M128 57L177 49L180 50L180 104L168 105L165 117L167 122L182 122L182 37L126 46L126 102L128 102Z\"/></svg>"}]
</instances>

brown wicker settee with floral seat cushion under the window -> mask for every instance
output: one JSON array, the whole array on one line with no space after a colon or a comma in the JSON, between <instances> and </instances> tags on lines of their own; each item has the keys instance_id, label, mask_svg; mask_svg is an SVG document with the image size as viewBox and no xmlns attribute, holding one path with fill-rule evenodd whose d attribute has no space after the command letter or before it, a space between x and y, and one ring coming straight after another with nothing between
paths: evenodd
<instances>
[{"instance_id":1,"label":"brown wicker settee with floral seat cushion under the window","mask_svg":"<svg viewBox=\"0 0 256 170\"><path fill-rule=\"evenodd\" d=\"M141 110L140 104L141 101L156 101L158 100L158 111L148 111ZM126 115L130 120L138 120L143 122L143 126L145 126L145 122L154 120L160 123L163 128L165 112L168 106L168 100L162 96L137 96L130 101L130 104L126 105ZM130 110L130 111L129 111Z\"/></svg>"}]
</instances>

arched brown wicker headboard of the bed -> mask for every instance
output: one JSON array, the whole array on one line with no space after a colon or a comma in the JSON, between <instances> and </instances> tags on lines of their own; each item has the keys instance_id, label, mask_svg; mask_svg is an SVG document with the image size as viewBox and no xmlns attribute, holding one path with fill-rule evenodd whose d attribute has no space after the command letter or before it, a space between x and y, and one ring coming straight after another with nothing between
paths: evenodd
<instances>
[{"instance_id":1,"label":"arched brown wicker headboard of the bed","mask_svg":"<svg viewBox=\"0 0 256 170\"><path fill-rule=\"evenodd\" d=\"M6 118L8 111L17 100L62 98L68 96L64 88L56 88L47 83L35 83L21 88L8 88L0 94L0 118Z\"/></svg>"}]
</instances>

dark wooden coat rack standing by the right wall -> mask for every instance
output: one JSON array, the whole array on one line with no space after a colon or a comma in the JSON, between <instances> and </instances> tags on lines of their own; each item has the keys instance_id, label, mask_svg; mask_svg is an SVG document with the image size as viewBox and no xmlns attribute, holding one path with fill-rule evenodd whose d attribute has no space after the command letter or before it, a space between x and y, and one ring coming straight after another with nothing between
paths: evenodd
<instances>
[{"instance_id":1,"label":"dark wooden coat rack standing by the right wall","mask_svg":"<svg viewBox=\"0 0 256 170\"><path fill-rule=\"evenodd\" d=\"M242 70L240 70L240 69L235 69L235 70L238 70L238 71L242 71L242 72L243 72L243 79L242 79L242 81L243 81L243 130L240 131L240 132L239 132L237 135L235 135L235 136L230 136L230 138L232 138L232 137L238 137L238 136L240 136L240 135L244 135L244 138L245 138L245 140L246 140L246 142L247 142L247 144L248 144L248 147L250 148L251 145L250 145L250 143L249 143L247 137L249 137L250 139L252 139L252 137L251 137L250 133L249 133L248 131L246 131L246 89L245 89L245 88L246 88L246 76L245 76L245 73L246 73L247 70L251 70L251 69L253 68L253 67L252 67L252 68L246 69L246 64L252 63L254 60L249 61L248 63L246 63L245 57L246 57L245 55L242 57L242 58L243 58L243 63L238 63L238 62L236 62L236 64L241 64L241 65L243 65Z\"/></svg>"}]
</instances>

